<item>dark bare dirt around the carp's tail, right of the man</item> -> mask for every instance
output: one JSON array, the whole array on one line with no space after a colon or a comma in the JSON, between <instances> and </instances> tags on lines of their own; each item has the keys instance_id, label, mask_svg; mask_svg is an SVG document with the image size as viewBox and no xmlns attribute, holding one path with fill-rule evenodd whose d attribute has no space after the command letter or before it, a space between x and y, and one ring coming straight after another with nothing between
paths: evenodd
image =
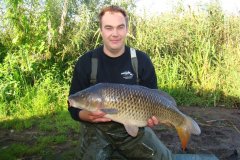
<instances>
[{"instance_id":1,"label":"dark bare dirt around the carp's tail, right of the man","mask_svg":"<svg viewBox=\"0 0 240 160\"><path fill-rule=\"evenodd\" d=\"M193 135L187 153L214 154L221 160L240 159L240 110L224 108L181 107L181 111L193 117L201 128L201 135ZM180 141L174 129L154 129L164 144L181 153Z\"/></svg>"}]
</instances>

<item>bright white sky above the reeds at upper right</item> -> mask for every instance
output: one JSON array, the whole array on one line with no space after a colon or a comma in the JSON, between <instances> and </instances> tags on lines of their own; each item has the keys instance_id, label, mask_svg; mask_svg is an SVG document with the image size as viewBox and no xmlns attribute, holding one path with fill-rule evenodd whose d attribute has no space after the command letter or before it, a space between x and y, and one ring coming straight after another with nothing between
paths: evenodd
<instances>
[{"instance_id":1,"label":"bright white sky above the reeds at upper right","mask_svg":"<svg viewBox=\"0 0 240 160\"><path fill-rule=\"evenodd\" d=\"M147 13L160 14L162 12L171 11L173 6L179 0L136 0L137 13L143 11ZM206 4L215 2L215 0L181 0L186 8L191 6L191 9L203 9ZM240 0L218 0L226 14L240 15Z\"/></svg>"}]
</instances>

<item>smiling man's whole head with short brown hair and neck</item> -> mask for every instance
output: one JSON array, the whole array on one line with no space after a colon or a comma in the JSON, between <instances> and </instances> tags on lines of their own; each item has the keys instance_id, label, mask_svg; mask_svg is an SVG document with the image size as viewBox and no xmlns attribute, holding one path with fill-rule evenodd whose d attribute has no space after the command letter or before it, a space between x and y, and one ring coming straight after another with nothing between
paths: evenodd
<instances>
[{"instance_id":1,"label":"smiling man's whole head with short brown hair and neck","mask_svg":"<svg viewBox=\"0 0 240 160\"><path fill-rule=\"evenodd\" d=\"M99 21L104 52L111 57L121 55L125 49L125 38L128 33L126 12L118 6L109 6L102 9Z\"/></svg>"}]
</instances>

